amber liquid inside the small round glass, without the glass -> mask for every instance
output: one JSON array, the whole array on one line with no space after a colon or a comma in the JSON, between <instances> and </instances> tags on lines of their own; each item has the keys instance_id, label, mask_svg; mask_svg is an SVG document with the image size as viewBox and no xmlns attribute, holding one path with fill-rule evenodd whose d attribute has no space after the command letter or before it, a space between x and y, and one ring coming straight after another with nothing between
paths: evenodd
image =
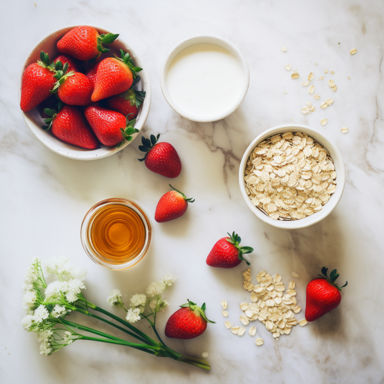
<instances>
[{"instance_id":1,"label":"amber liquid inside the small round glass, without the glass","mask_svg":"<svg viewBox=\"0 0 384 384\"><path fill-rule=\"evenodd\" d=\"M145 243L145 225L131 208L108 204L97 209L89 220L89 243L100 258L122 264L136 257Z\"/></svg>"}]
</instances>

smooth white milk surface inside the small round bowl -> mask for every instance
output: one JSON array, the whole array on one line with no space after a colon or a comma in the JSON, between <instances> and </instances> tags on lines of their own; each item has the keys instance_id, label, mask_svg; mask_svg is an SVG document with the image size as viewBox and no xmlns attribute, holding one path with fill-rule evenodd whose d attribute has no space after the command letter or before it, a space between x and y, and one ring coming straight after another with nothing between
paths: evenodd
<instances>
[{"instance_id":1,"label":"smooth white milk surface inside the small round bowl","mask_svg":"<svg viewBox=\"0 0 384 384\"><path fill-rule=\"evenodd\" d=\"M209 119L236 106L243 77L241 63L231 52L203 42L175 55L166 82L170 97L184 114Z\"/></svg>"}]
</instances>

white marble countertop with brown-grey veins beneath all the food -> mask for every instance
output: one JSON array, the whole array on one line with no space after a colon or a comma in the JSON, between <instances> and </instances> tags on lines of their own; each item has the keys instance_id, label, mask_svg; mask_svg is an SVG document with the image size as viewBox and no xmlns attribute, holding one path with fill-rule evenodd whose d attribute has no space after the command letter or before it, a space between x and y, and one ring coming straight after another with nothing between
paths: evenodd
<instances>
[{"instance_id":1,"label":"white marble countertop with brown-grey veins beneath all the food","mask_svg":"<svg viewBox=\"0 0 384 384\"><path fill-rule=\"evenodd\" d=\"M3 1L2 382L381 382L383 17L384 3L357 0L37 0L36 6L33 0ZM31 134L17 102L17 79L30 48L55 29L87 23L120 33L142 56L152 80L152 105L143 132L160 132L160 139L176 147L183 168L172 185L196 199L182 218L165 224L152 219L154 236L149 253L122 272L102 269L85 255L79 236L84 214L103 198L128 197L153 217L169 180L136 160L138 140L96 161L56 155ZM250 69L244 102L233 114L214 123L194 123L178 116L163 98L158 80L166 52L182 38L202 33L232 41ZM282 52L281 46L287 51ZM353 56L351 48L357 48ZM291 72L284 69L287 63L298 69L300 79L290 78ZM329 73L324 74L324 69ZM334 99L326 110L300 85L310 71L315 78L324 75L324 80L314 81L315 93ZM326 83L329 78L338 86L334 93ZM300 108L309 100L316 111L303 115ZM323 117L328 119L325 126L320 125ZM346 185L341 201L323 221L284 231L262 223L247 209L237 172L239 159L257 134L292 120L321 130L336 143L345 162ZM342 126L349 128L347 134L340 132ZM214 242L232 230L241 235L243 245L255 248L250 255L254 276L265 269L270 274L280 273L287 283L292 271L299 274L296 297L303 309L306 283L323 265L337 268L340 280L348 280L340 305L313 323L294 327L278 341L256 322L264 339L261 347L255 346L247 333L233 335L223 325L220 300L228 301L228 319L235 323L240 314L238 304L248 299L241 286L246 266L242 263L225 270L205 264ZM207 351L211 371L123 346L82 341L48 357L39 355L37 341L19 325L23 315L20 285L31 257L47 259L52 255L66 255L85 267L89 272L87 297L104 306L111 288L120 288L127 299L165 272L177 275L178 281L165 295L170 306L159 316L159 332L163 333L166 319L186 298L205 301L207 316L217 324L209 324L198 338L168 342L191 355ZM297 317L302 318L303 311ZM92 320L89 324L99 326ZM141 327L147 329L144 324Z\"/></svg>"}]
</instances>

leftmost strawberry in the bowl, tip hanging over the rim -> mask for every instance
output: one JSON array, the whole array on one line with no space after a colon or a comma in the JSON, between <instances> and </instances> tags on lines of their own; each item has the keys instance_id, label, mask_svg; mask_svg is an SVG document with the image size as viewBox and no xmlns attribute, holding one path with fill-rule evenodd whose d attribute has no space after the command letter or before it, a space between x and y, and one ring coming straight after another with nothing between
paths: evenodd
<instances>
[{"instance_id":1,"label":"leftmost strawberry in the bowl, tip hanging over the rim","mask_svg":"<svg viewBox=\"0 0 384 384\"><path fill-rule=\"evenodd\" d=\"M20 108L24 112L33 109L48 98L56 79L54 63L49 63L47 53L40 52L40 60L28 65L21 79Z\"/></svg>"}]
</instances>

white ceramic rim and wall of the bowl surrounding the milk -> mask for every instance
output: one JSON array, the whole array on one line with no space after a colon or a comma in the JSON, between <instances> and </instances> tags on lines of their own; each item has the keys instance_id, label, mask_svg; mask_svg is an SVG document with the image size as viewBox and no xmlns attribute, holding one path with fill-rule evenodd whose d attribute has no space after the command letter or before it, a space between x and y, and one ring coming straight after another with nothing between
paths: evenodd
<instances>
[{"instance_id":1,"label":"white ceramic rim and wall of the bowl surrounding the milk","mask_svg":"<svg viewBox=\"0 0 384 384\"><path fill-rule=\"evenodd\" d=\"M188 113L187 111L181 109L177 103L172 100L172 97L169 94L168 87L167 87L167 71L169 68L170 63L172 62L173 58L176 56L177 53L179 53L181 50L186 48L189 45L196 44L196 43L202 43L202 42L208 42L213 43L216 45L219 45L225 49L227 49L229 52L231 52L240 62L242 71L243 71L243 83L241 87L240 94L237 98L237 100L234 100L233 104L225 110L224 112L221 112L220 114L212 114L208 118L206 116L201 117L198 115L192 115ZM228 40L225 40L218 36L212 36L212 35L197 35L192 36L183 39L179 43L177 43L166 55L165 60L163 61L160 69L160 86L162 94L165 97L165 100L167 103L171 106L171 108L181 116L192 120L192 121L199 121L199 122L206 122L206 121L216 121L221 118L224 118L228 116L230 113L232 113L234 110L237 109L237 107L241 104L242 100L244 99L246 92L248 90L249 85L249 69L248 64L246 63L246 60L242 53Z\"/></svg>"}]
</instances>

